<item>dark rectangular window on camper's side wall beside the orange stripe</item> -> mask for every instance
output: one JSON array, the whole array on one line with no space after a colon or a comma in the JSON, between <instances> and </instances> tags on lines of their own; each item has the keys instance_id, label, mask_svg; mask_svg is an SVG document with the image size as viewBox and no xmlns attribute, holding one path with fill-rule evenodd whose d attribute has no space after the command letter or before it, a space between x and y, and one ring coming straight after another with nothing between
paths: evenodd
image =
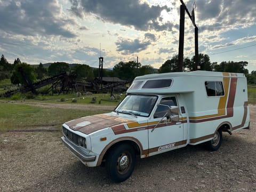
<instances>
[{"instance_id":1,"label":"dark rectangular window on camper's side wall beside the orange stripe","mask_svg":"<svg viewBox=\"0 0 256 192\"><path fill-rule=\"evenodd\" d=\"M222 82L205 82L205 89L209 97L224 95Z\"/></svg>"}]
</instances>

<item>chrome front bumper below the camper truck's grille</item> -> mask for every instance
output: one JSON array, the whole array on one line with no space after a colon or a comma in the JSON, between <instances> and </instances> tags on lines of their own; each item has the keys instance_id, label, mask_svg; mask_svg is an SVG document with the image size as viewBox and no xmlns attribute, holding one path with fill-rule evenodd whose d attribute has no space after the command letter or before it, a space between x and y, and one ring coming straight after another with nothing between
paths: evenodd
<instances>
[{"instance_id":1,"label":"chrome front bumper below the camper truck's grille","mask_svg":"<svg viewBox=\"0 0 256 192\"><path fill-rule=\"evenodd\" d=\"M71 153L73 153L77 158L80 159L81 162L84 164L86 162L94 162L96 155L89 155L85 153L82 149L74 145L72 142L70 142L66 137L61 137L62 142L64 143L65 146L69 148Z\"/></svg>"}]
</instances>

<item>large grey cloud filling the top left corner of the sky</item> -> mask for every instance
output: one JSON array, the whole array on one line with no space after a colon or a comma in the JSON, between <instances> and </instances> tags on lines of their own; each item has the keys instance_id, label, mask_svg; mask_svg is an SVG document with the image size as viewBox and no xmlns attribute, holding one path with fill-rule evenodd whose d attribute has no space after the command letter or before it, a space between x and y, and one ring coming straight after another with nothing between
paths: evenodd
<instances>
[{"instance_id":1,"label":"large grey cloud filling the top left corner of the sky","mask_svg":"<svg viewBox=\"0 0 256 192\"><path fill-rule=\"evenodd\" d=\"M75 25L75 21L62 17L62 8L56 0L5 1L0 6L0 18L1 30L7 33L76 37L67 29L67 25Z\"/></svg>"}]
</instances>

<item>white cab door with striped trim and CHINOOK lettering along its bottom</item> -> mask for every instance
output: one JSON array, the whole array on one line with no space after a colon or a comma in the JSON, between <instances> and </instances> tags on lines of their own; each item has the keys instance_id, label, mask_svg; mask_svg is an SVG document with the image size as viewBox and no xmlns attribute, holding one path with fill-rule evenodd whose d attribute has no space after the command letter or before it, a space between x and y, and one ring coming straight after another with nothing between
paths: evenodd
<instances>
[{"instance_id":1,"label":"white cab door with striped trim and CHINOOK lettering along its bottom","mask_svg":"<svg viewBox=\"0 0 256 192\"><path fill-rule=\"evenodd\" d=\"M148 123L149 154L162 153L186 144L183 141L183 124L179 120L182 116L177 108L175 97L164 97L159 102Z\"/></svg>"}]
</instances>

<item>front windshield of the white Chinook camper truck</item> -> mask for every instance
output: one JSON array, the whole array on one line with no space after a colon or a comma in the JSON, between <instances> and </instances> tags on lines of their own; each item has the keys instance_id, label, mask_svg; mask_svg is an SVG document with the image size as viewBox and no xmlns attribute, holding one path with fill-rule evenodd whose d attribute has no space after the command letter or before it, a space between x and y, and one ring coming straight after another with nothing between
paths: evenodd
<instances>
[{"instance_id":1,"label":"front windshield of the white Chinook camper truck","mask_svg":"<svg viewBox=\"0 0 256 192\"><path fill-rule=\"evenodd\" d=\"M117 113L148 117L155 106L157 96L155 95L127 95L117 106Z\"/></svg>"}]
</instances>

